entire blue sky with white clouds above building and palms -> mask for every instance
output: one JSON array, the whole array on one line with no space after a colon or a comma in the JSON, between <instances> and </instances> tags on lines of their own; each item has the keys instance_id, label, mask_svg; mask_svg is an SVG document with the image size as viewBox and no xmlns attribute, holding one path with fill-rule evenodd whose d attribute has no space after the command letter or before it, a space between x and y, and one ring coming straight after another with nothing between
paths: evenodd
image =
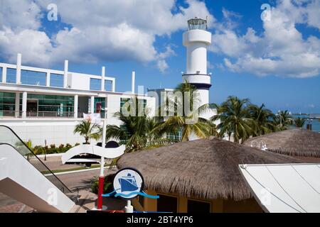
<instances>
[{"instance_id":1,"label":"entire blue sky with white clouds above building and palms","mask_svg":"<svg viewBox=\"0 0 320 227\"><path fill-rule=\"evenodd\" d=\"M58 6L58 21L48 21L50 3ZM100 74L105 66L119 92L130 89L132 70L136 84L145 89L176 87L186 67L186 20L208 16L213 33L208 50L210 102L236 95L265 103L272 111L320 112L319 1L1 4L26 12L17 18L1 6L1 62L14 62L16 52L22 52L24 65L63 70L63 60L69 59L70 71L89 74ZM262 4L270 4L270 21L261 19Z\"/></svg>"}]
</instances>

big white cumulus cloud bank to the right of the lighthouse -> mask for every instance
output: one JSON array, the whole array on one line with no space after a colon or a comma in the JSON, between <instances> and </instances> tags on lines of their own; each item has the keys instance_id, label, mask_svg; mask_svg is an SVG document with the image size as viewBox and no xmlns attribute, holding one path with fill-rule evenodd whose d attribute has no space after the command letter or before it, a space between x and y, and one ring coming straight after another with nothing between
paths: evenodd
<instances>
[{"instance_id":1,"label":"big white cumulus cloud bank to the right of the lighthouse","mask_svg":"<svg viewBox=\"0 0 320 227\"><path fill-rule=\"evenodd\" d=\"M225 67L233 72L259 76L317 76L320 74L320 40L313 35L304 38L297 24L319 28L319 11L319 1L278 1L272 8L271 20L263 21L262 35L257 35L253 28L239 35L232 26L218 27L210 50L223 53Z\"/></svg>"}]
</instances>

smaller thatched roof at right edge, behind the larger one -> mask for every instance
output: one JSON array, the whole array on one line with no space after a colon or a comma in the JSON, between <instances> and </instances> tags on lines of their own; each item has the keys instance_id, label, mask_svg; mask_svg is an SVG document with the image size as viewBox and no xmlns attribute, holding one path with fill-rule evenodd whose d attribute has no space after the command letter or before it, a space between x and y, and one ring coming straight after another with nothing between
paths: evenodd
<instances>
[{"instance_id":1,"label":"smaller thatched roof at right edge, behind the larger one","mask_svg":"<svg viewBox=\"0 0 320 227\"><path fill-rule=\"evenodd\" d=\"M320 157L320 133L302 128L270 133L245 141L245 145L267 145L267 150L283 155Z\"/></svg>"}]
</instances>

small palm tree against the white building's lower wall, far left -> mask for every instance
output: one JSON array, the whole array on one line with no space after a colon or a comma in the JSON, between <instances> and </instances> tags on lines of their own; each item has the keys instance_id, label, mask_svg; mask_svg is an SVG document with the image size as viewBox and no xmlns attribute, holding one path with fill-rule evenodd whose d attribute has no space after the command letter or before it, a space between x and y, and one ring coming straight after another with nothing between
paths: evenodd
<instances>
[{"instance_id":1,"label":"small palm tree against the white building's lower wall, far left","mask_svg":"<svg viewBox=\"0 0 320 227\"><path fill-rule=\"evenodd\" d=\"M90 139L98 140L100 138L100 126L91 124L91 121L83 120L75 126L74 134L79 133L85 138L85 144L90 144Z\"/></svg>"}]
</instances>

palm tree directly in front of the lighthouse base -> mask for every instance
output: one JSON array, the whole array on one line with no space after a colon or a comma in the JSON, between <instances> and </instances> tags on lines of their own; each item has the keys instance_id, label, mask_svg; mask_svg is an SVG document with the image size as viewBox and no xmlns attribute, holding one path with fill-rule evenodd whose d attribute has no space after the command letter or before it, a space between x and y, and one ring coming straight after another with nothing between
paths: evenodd
<instances>
[{"instance_id":1,"label":"palm tree directly in front of the lighthouse base","mask_svg":"<svg viewBox=\"0 0 320 227\"><path fill-rule=\"evenodd\" d=\"M166 111L168 116L164 118L164 121L155 130L161 133L176 133L181 130L181 141L187 141L193 135L196 135L197 138L217 135L215 124L201 117L201 114L208 111L210 105L206 104L197 108L200 98L198 92L196 92L196 87L185 81L174 89L174 93L176 94L177 92L181 92L182 96L168 97L160 107ZM188 94L188 96L184 94ZM169 109L169 102L174 105L174 110ZM187 103L190 106L190 110L185 108Z\"/></svg>"}]
</instances>

